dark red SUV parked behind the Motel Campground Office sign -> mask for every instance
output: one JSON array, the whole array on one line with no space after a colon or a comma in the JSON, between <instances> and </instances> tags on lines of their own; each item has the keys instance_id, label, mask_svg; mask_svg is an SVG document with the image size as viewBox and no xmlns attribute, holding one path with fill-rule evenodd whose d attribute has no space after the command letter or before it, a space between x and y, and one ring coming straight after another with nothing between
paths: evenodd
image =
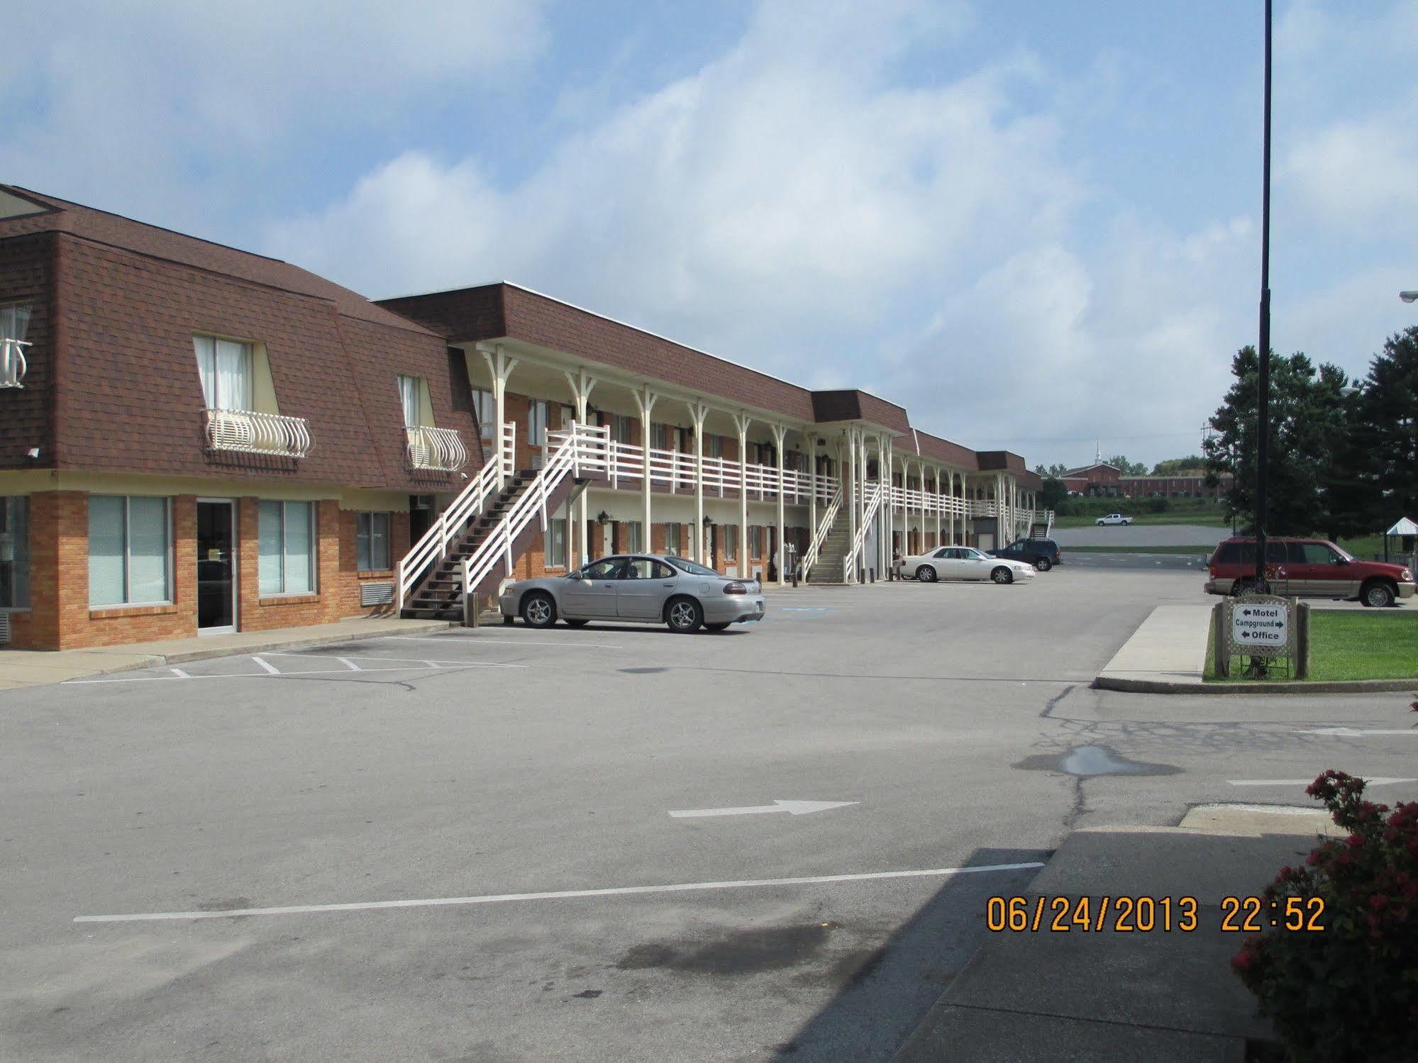
<instances>
[{"instance_id":1,"label":"dark red SUV parked behind the Motel Campground Office sign","mask_svg":"<svg viewBox=\"0 0 1418 1063\"><path fill-rule=\"evenodd\" d=\"M1414 577L1401 564L1360 561L1324 539L1268 539L1266 568L1276 594L1302 598L1349 598L1364 605L1392 605L1411 598ZM1255 583L1255 540L1228 539L1210 561L1207 594L1239 594Z\"/></svg>"}]
</instances>

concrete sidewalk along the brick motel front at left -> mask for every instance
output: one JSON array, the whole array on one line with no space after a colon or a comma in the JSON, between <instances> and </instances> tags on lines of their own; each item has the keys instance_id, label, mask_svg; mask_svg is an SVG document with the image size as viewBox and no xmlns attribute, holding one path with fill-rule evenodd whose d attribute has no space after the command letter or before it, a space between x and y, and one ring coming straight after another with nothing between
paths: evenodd
<instances>
[{"instance_id":1,"label":"concrete sidewalk along the brick motel front at left","mask_svg":"<svg viewBox=\"0 0 1418 1063\"><path fill-rule=\"evenodd\" d=\"M201 635L190 639L162 642L133 642L126 646L95 646L92 649L0 649L0 690L62 683L67 679L128 672L155 665L179 665L184 660L221 658L230 653L261 653L274 649L325 646L333 642L377 638L380 635L408 635L421 631L445 631L447 621L415 621L398 618L354 617L335 624L312 624L303 628L274 628L271 631L241 631L234 635Z\"/></svg>"}]
</instances>

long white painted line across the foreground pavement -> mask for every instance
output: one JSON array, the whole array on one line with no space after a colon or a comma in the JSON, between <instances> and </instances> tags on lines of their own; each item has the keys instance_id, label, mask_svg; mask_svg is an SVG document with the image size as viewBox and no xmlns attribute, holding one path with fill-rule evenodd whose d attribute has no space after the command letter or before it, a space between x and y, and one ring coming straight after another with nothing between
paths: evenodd
<instances>
[{"instance_id":1,"label":"long white painted line across the foreground pavement","mask_svg":"<svg viewBox=\"0 0 1418 1063\"><path fill-rule=\"evenodd\" d=\"M570 900L574 897L625 897L641 893L688 893L691 890L736 890L763 886L815 886L832 882L872 882L878 879L926 879L950 874L986 874L1042 867L1041 862L991 863L980 867L934 867L912 872L868 872L865 874L811 874L798 879L740 879L739 882L682 882L669 886L611 886L600 890L553 890L549 893L493 893L481 897L428 897L421 900L367 900L352 904L286 904L272 909L231 909L230 911L150 911L128 916L75 916L75 923L157 923L187 918L237 918L238 916L309 916L323 911L377 911L383 909L440 909L458 904L505 904L513 900Z\"/></svg>"}]
</instances>

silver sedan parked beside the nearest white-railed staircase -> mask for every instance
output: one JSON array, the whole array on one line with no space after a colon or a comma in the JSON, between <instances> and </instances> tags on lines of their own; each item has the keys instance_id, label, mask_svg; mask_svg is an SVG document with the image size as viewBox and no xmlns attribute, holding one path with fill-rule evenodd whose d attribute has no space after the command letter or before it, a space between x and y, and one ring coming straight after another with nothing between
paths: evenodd
<instances>
[{"instance_id":1,"label":"silver sedan parked beside the nearest white-railed staircase","mask_svg":"<svg viewBox=\"0 0 1418 1063\"><path fill-rule=\"evenodd\" d=\"M498 598L502 622L520 617L533 628L564 619L668 624L671 631L723 631L763 619L763 587L736 580L683 557L603 557L566 575L508 584Z\"/></svg>"}]
</instances>

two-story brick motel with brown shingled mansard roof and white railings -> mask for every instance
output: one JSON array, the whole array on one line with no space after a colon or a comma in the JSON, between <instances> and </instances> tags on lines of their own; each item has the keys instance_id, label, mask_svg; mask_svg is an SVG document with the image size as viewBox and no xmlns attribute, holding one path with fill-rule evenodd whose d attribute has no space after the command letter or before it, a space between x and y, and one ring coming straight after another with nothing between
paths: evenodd
<instances>
[{"instance_id":1,"label":"two-story brick motel with brown shingled mansard roof and white railings","mask_svg":"<svg viewBox=\"0 0 1418 1063\"><path fill-rule=\"evenodd\" d=\"M1046 533L1038 488L518 285L372 302L0 186L0 643L455 619L618 551L859 583Z\"/></svg>"}]
</instances>

